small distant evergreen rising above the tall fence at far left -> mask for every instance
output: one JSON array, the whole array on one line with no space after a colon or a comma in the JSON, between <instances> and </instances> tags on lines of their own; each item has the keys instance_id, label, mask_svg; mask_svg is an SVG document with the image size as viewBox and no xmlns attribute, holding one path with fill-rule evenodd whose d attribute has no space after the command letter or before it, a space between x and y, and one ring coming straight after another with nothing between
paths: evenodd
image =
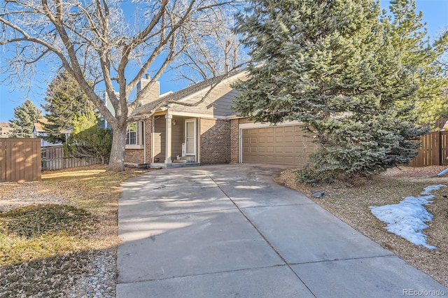
<instances>
[{"instance_id":1,"label":"small distant evergreen rising above the tall fence at far left","mask_svg":"<svg viewBox=\"0 0 448 298\"><path fill-rule=\"evenodd\" d=\"M34 123L42 118L41 110L29 99L14 109L13 119L9 120L11 138L32 138Z\"/></svg>"}]
</instances>

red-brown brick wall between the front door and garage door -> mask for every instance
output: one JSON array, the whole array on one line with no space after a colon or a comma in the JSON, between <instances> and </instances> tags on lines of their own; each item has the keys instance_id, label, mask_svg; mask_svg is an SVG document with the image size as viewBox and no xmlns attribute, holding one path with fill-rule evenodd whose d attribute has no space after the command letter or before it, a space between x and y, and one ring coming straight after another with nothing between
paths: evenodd
<instances>
[{"instance_id":1,"label":"red-brown brick wall between the front door and garage door","mask_svg":"<svg viewBox=\"0 0 448 298\"><path fill-rule=\"evenodd\" d=\"M200 119L201 164L228 164L230 158L230 121Z\"/></svg>"}]
</instances>

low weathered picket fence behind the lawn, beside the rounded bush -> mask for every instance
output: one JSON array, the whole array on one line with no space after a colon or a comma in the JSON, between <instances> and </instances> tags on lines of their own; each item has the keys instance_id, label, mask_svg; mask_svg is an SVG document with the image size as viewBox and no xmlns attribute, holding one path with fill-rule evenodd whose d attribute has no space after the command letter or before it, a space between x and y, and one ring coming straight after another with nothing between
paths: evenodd
<instances>
[{"instance_id":1,"label":"low weathered picket fence behind the lawn, beside the rounded bush","mask_svg":"<svg viewBox=\"0 0 448 298\"><path fill-rule=\"evenodd\" d=\"M71 169L89 164L99 164L100 159L94 157L65 157L62 146L42 148L42 170L52 171Z\"/></svg>"}]
</instances>

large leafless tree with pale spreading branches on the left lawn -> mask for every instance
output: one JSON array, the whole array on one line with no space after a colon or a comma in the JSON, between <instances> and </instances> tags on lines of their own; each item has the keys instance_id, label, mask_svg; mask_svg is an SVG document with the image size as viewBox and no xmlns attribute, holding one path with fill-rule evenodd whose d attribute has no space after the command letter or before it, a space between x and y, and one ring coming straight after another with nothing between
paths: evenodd
<instances>
[{"instance_id":1,"label":"large leafless tree with pale spreading branches on the left lawn","mask_svg":"<svg viewBox=\"0 0 448 298\"><path fill-rule=\"evenodd\" d=\"M53 66L52 71L69 71L113 129L109 170L123 171L126 127L141 120L142 116L134 113L136 108L170 65L180 61L179 66L190 66L203 78L225 78L225 73L235 70L237 63L230 58L237 53L235 38L229 37L221 50L216 47L207 52L200 46L222 43L220 28L230 33L225 30L228 19L224 16L234 2L5 0L0 10L0 45L14 55L3 71L16 79L32 73L42 62ZM218 38L215 43L214 38ZM221 64L216 57L225 57L223 62L232 64L216 66ZM211 65L216 67L204 71ZM150 69L151 81L130 100ZM217 81L211 81L213 88ZM100 89L106 90L113 111L99 96ZM152 104L155 111L169 103L160 99Z\"/></svg>"}]
</instances>

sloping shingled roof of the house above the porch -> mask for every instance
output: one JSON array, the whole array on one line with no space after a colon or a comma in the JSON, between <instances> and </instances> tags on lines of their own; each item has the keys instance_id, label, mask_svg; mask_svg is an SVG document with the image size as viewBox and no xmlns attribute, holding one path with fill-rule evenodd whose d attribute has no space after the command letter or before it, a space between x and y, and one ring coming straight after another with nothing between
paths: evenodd
<instances>
[{"instance_id":1,"label":"sloping shingled roof of the house above the porch","mask_svg":"<svg viewBox=\"0 0 448 298\"><path fill-rule=\"evenodd\" d=\"M186 97L189 97L190 95L193 95L197 92L201 92L203 90L208 90L209 87L211 87L211 85L217 84L219 85L220 83L222 83L225 79L228 78L232 78L238 75L241 75L242 73L244 73L245 69L241 69L239 71L232 71L231 73L226 73L224 75L221 76L217 76L214 78L209 78L207 80L203 80L200 83L194 84L194 85L190 85L189 87L186 87L182 90L179 90L177 92L174 92L172 94L167 94L164 97L160 97L160 99L158 99L158 102L163 102L163 101L181 101L183 99L186 99ZM146 104L144 106L141 106L140 108L138 108L138 110L136 111L137 114L144 114L144 113L148 113L151 112L151 110L153 109L154 103L157 101L153 101L150 104Z\"/></svg>"}]
</instances>

